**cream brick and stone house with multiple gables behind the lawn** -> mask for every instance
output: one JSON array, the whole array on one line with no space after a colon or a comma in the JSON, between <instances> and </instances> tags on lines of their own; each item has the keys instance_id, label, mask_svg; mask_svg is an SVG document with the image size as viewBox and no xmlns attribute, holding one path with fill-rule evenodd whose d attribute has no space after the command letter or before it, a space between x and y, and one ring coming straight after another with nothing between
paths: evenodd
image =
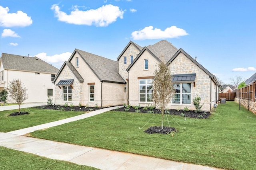
<instances>
[{"instance_id":1,"label":"cream brick and stone house with multiple gables behind the lawn","mask_svg":"<svg viewBox=\"0 0 256 170\"><path fill-rule=\"evenodd\" d=\"M101 107L124 103L142 107L154 105L152 81L161 60L170 68L176 89L168 105L170 109L185 106L195 109L192 100L197 95L204 103L203 110L213 107L212 101L218 99L216 77L183 49L177 49L166 40L147 47L130 41L117 61L75 49L53 81L55 103Z\"/></svg>"}]
</instances>

